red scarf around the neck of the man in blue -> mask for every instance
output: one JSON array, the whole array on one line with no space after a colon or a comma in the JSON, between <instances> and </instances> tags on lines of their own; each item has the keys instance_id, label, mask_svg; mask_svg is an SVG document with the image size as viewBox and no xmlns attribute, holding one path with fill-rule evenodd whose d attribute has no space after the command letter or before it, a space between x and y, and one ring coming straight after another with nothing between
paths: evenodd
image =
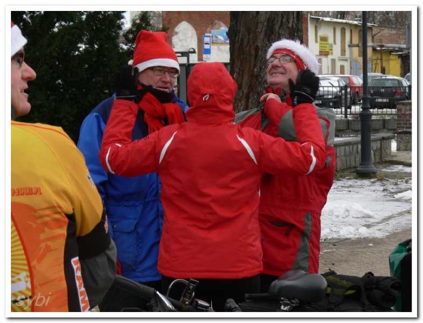
<instances>
[{"instance_id":1,"label":"red scarf around the neck of the man in blue","mask_svg":"<svg viewBox=\"0 0 423 323\"><path fill-rule=\"evenodd\" d=\"M144 111L144 122L148 126L148 134L163 128L164 118L167 118L169 124L180 124L185 121L178 103L160 103L150 92L144 94L138 106Z\"/></svg>"}]
</instances>

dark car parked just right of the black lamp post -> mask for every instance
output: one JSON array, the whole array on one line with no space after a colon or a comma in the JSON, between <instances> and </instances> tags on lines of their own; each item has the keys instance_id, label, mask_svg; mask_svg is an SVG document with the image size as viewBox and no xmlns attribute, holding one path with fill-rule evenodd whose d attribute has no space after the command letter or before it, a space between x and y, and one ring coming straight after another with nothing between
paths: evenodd
<instances>
[{"instance_id":1,"label":"dark car parked just right of the black lamp post","mask_svg":"<svg viewBox=\"0 0 423 323\"><path fill-rule=\"evenodd\" d=\"M370 108L396 108L396 102L408 100L408 81L390 76L376 78L369 82Z\"/></svg>"}]
</instances>

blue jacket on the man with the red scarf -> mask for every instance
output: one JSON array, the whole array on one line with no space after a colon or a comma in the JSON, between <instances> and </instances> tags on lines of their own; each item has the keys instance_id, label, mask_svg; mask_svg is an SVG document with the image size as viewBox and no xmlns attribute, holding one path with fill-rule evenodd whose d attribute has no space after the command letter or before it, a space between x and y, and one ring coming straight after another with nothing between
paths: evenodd
<instances>
[{"instance_id":1,"label":"blue jacket on the man with the red scarf","mask_svg":"<svg viewBox=\"0 0 423 323\"><path fill-rule=\"evenodd\" d=\"M188 106L176 98L181 110ZM161 279L157 256L163 225L160 202L161 183L156 173L123 177L107 173L98 153L104 129L109 119L114 96L97 105L84 119L79 131L78 148L103 200L109 220L109 233L114 239L122 275L138 282ZM132 140L148 134L139 110L132 131Z\"/></svg>"}]
</instances>

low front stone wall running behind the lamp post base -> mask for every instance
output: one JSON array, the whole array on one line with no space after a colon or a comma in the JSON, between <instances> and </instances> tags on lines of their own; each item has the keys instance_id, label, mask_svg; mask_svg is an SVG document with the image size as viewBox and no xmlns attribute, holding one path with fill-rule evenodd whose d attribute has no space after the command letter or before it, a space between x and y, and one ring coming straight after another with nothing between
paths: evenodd
<instances>
[{"instance_id":1,"label":"low front stone wall running behind the lamp post base","mask_svg":"<svg viewBox=\"0 0 423 323\"><path fill-rule=\"evenodd\" d=\"M394 134L375 134L371 136L371 158L376 163L391 156L391 140ZM361 138L335 138L336 170L357 167L361 161Z\"/></svg>"}]
</instances>

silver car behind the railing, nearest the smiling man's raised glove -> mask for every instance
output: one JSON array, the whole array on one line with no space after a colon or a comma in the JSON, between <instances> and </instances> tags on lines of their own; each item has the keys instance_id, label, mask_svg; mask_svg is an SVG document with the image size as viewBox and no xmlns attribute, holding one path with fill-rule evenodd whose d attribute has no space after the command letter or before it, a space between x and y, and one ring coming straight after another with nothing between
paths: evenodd
<instances>
[{"instance_id":1,"label":"silver car behind the railing, nearest the smiling man's raised glove","mask_svg":"<svg viewBox=\"0 0 423 323\"><path fill-rule=\"evenodd\" d=\"M316 93L314 103L321 107L341 108L345 106L345 96L347 95L347 107L351 109L351 89L338 76L319 75L319 90Z\"/></svg>"}]
</instances>

